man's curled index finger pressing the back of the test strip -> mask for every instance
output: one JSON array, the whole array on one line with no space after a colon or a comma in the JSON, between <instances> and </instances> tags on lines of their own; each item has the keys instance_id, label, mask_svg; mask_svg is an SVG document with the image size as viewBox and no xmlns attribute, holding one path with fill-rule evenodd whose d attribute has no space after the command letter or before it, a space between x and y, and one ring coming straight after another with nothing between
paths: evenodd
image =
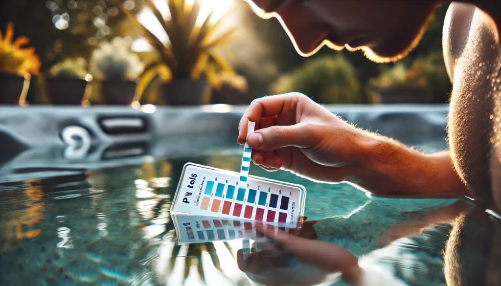
<instances>
[{"instance_id":1,"label":"man's curled index finger pressing the back of the test strip","mask_svg":"<svg viewBox=\"0 0 501 286\"><path fill-rule=\"evenodd\" d=\"M288 103L297 102L307 98L300 93L288 93L274 96L267 96L253 100L243 114L238 124L238 143L244 144L247 135L247 122L253 121L256 124L261 123L262 118L274 117L279 115L284 106Z\"/></svg>"}]
</instances>

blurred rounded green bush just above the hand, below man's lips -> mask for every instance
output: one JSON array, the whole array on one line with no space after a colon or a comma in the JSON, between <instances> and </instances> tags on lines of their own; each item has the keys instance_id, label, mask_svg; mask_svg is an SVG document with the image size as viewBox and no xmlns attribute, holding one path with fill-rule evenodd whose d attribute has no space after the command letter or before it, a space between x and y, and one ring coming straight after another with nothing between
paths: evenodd
<instances>
[{"instance_id":1,"label":"blurred rounded green bush just above the hand, below man's lips","mask_svg":"<svg viewBox=\"0 0 501 286\"><path fill-rule=\"evenodd\" d=\"M280 77L272 93L301 92L319 103L360 103L361 88L355 68L342 54L322 56Z\"/></svg>"}]
</instances>

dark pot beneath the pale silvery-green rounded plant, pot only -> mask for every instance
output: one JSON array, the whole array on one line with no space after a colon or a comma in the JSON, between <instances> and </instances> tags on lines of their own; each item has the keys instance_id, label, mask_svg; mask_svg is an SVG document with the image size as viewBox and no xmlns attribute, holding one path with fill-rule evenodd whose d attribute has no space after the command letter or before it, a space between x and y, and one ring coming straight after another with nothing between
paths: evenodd
<instances>
[{"instance_id":1,"label":"dark pot beneath the pale silvery-green rounded plant, pot only","mask_svg":"<svg viewBox=\"0 0 501 286\"><path fill-rule=\"evenodd\" d=\"M103 100L106 104L131 104L137 83L127 80L107 80L101 82Z\"/></svg>"}]
</instances>

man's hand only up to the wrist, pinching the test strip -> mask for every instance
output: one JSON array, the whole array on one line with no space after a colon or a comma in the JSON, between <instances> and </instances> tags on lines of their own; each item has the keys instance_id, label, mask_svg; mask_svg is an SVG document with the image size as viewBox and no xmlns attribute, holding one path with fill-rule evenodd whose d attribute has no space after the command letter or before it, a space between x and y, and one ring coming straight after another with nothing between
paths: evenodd
<instances>
[{"instance_id":1,"label":"man's hand only up to the wrist, pinching the test strip","mask_svg":"<svg viewBox=\"0 0 501 286\"><path fill-rule=\"evenodd\" d=\"M257 123L257 131L247 138L252 160L266 170L284 168L318 181L341 182L348 168L359 164L359 130L303 94L253 101L239 124L240 144L249 120Z\"/></svg>"}]
</instances>

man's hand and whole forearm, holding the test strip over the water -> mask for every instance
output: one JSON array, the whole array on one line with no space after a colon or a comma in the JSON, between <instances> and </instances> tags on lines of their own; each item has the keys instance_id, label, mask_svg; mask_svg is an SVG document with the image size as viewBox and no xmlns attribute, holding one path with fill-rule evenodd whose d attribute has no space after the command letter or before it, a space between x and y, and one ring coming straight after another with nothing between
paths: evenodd
<instances>
[{"instance_id":1,"label":"man's hand and whole forearm, holding the test strip over the water","mask_svg":"<svg viewBox=\"0 0 501 286\"><path fill-rule=\"evenodd\" d=\"M245 138L249 120L257 130ZM238 129L238 143L247 139L253 162L269 171L282 168L315 181L346 181L380 196L468 193L448 151L423 154L363 131L300 93L254 100Z\"/></svg>"}]
</instances>

